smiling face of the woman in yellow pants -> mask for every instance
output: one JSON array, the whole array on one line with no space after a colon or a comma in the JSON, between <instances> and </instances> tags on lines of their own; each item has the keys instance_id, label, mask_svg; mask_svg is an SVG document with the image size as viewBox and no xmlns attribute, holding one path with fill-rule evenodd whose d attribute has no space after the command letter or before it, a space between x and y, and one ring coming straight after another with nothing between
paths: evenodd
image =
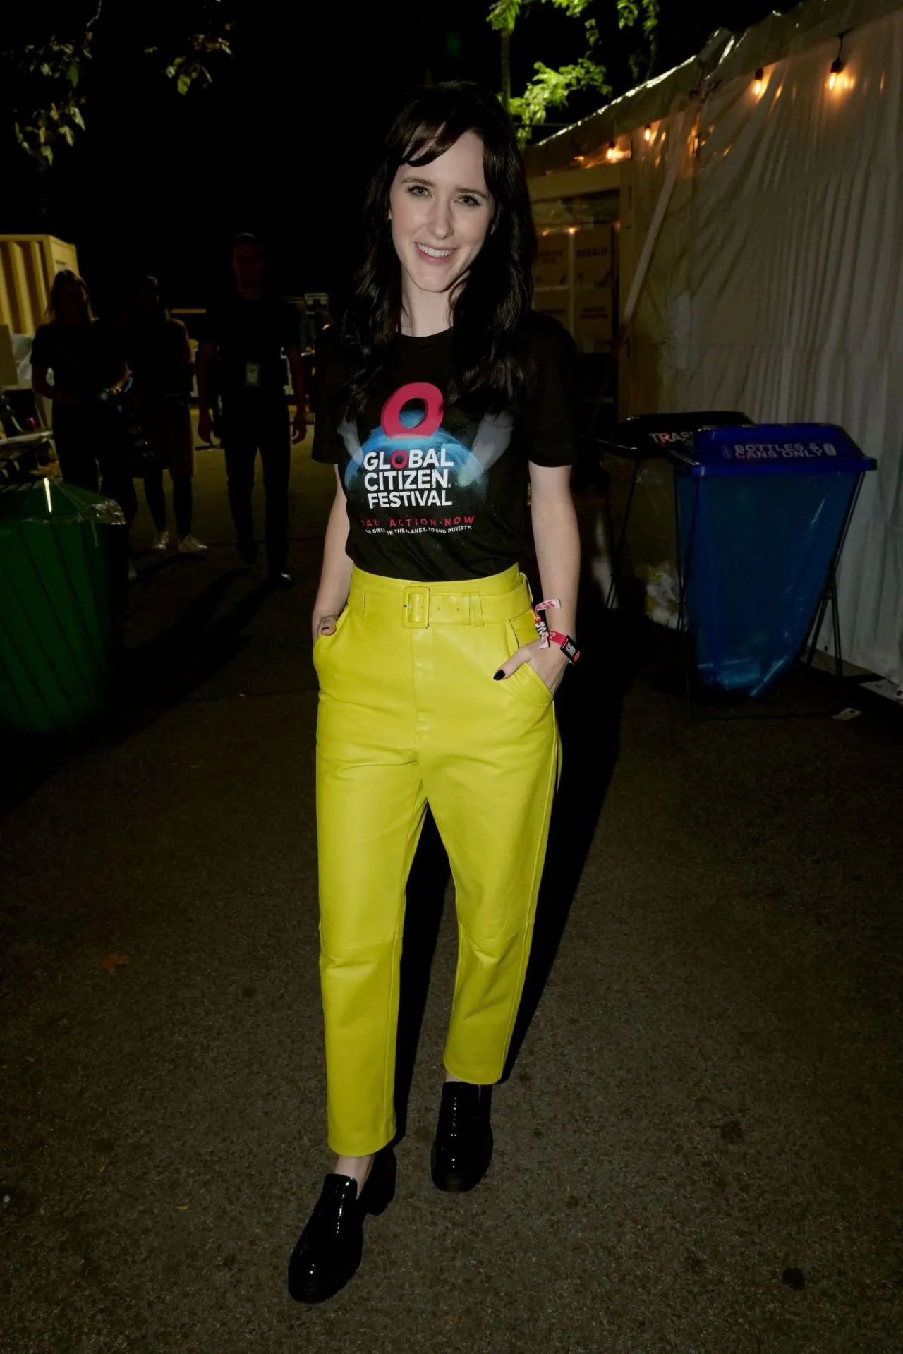
<instances>
[{"instance_id":1,"label":"smiling face of the woman in yellow pants","mask_svg":"<svg viewBox=\"0 0 903 1354\"><path fill-rule=\"evenodd\" d=\"M482 249L493 219L483 142L466 131L431 164L401 165L389 206L406 282L420 291L448 291Z\"/></svg>"}]
</instances>

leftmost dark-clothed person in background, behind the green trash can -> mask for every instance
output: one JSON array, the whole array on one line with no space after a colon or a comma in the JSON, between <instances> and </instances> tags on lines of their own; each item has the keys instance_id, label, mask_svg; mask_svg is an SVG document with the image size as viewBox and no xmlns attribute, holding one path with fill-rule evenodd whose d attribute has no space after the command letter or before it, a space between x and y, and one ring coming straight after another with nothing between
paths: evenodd
<instances>
[{"instance_id":1,"label":"leftmost dark-clothed person in background, behind the green trash can","mask_svg":"<svg viewBox=\"0 0 903 1354\"><path fill-rule=\"evenodd\" d=\"M129 380L116 336L95 320L85 283L69 269L58 272L46 322L31 345L31 386L53 405L53 440L64 481L95 494L100 490L118 502L127 529L138 510L129 439L118 409ZM129 578L134 577L129 561Z\"/></svg>"}]
</instances>

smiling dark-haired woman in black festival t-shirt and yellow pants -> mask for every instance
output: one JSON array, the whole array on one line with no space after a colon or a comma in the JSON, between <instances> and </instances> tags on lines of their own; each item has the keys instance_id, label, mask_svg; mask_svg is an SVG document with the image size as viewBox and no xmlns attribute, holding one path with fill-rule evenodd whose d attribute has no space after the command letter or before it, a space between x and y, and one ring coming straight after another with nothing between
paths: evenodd
<instances>
[{"instance_id":1,"label":"smiling dark-haired woman in black festival t-shirt and yellow pants","mask_svg":"<svg viewBox=\"0 0 903 1354\"><path fill-rule=\"evenodd\" d=\"M573 344L529 309L535 234L514 129L474 85L402 111L366 204L355 306L317 355L314 458L336 497L314 605L321 990L337 1154L292 1297L355 1273L394 1193L405 887L426 804L459 960L432 1151L437 1189L493 1154L558 773L552 696L577 655ZM531 490L544 605L520 559ZM560 634L559 634L560 631ZM560 643L559 643L560 640ZM570 645L570 649L567 647Z\"/></svg>"}]
</instances>

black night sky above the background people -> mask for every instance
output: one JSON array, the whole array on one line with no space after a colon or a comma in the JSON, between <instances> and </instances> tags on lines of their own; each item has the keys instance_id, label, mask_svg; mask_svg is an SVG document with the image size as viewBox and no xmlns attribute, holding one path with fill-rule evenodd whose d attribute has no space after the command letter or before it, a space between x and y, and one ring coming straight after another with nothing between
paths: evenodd
<instances>
[{"instance_id":1,"label":"black night sky above the background people","mask_svg":"<svg viewBox=\"0 0 903 1354\"><path fill-rule=\"evenodd\" d=\"M50 229L74 241L100 309L139 271L158 274L172 305L207 303L227 278L236 230L267 238L283 291L341 297L363 184L406 93L425 79L500 84L486 0L233 0L232 8L234 58L218 65L206 92L180 97L150 65L123 61L110 38L92 62L88 130L49 173L34 173L0 129L9 190L0 230ZM699 50L719 23L738 30L770 8L768 0L701 0L690 18L681 0L665 0L658 69ZM118 18L131 22L134 12L125 5ZM574 60L581 39L573 20L535 5L513 41L514 89L539 57ZM634 45L615 27L602 30L616 91L634 83ZM563 121L598 102L574 100Z\"/></svg>"}]
</instances>

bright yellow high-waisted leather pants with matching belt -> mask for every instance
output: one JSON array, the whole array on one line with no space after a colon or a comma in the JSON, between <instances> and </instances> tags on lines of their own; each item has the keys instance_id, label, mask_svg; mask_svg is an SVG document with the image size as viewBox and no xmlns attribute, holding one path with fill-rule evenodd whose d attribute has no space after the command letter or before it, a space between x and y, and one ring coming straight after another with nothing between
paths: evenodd
<instances>
[{"instance_id":1,"label":"bright yellow high-waisted leather pants with matching belt","mask_svg":"<svg viewBox=\"0 0 903 1354\"><path fill-rule=\"evenodd\" d=\"M524 984L559 761L552 697L529 666L527 581L408 584L355 569L320 677L320 974L329 1145L395 1133L405 886L429 803L456 890L458 971L444 1063L501 1076Z\"/></svg>"}]
</instances>

